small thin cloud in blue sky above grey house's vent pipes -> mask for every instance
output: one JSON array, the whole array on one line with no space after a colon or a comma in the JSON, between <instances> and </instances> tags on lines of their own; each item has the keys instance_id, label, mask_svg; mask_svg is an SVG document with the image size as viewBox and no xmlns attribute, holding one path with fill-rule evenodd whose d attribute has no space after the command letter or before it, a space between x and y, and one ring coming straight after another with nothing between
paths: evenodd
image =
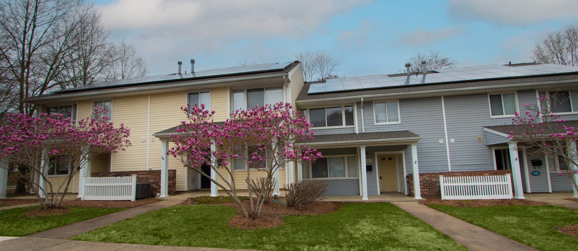
<instances>
[{"instance_id":1,"label":"small thin cloud in blue sky above grey house's vent pipes","mask_svg":"<svg viewBox=\"0 0 578 251\"><path fill-rule=\"evenodd\" d=\"M399 45L429 45L438 40L450 39L455 35L464 34L462 27L446 27L436 29L435 31L428 31L427 29L416 29L415 31L407 32L397 39Z\"/></svg>"}]
</instances>

